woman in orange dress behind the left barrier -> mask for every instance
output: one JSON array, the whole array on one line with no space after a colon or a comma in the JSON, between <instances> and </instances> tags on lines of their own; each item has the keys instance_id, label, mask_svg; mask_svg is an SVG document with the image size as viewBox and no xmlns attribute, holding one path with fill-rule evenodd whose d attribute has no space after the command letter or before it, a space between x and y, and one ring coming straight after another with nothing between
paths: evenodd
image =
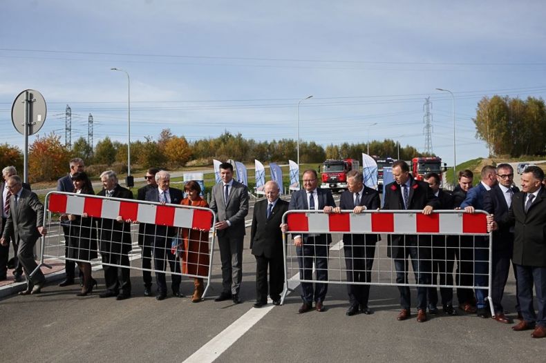
<instances>
[{"instance_id":1,"label":"woman in orange dress behind the left barrier","mask_svg":"<svg viewBox=\"0 0 546 363\"><path fill-rule=\"evenodd\" d=\"M188 181L184 187L187 197L182 199L182 206L209 208L209 204L199 196L201 187L197 181ZM211 221L212 222L212 221ZM209 230L180 228L180 237L184 241L182 251L182 273L188 275L209 275ZM194 295L191 302L200 302L203 296L203 278L194 278Z\"/></svg>"}]
</instances>

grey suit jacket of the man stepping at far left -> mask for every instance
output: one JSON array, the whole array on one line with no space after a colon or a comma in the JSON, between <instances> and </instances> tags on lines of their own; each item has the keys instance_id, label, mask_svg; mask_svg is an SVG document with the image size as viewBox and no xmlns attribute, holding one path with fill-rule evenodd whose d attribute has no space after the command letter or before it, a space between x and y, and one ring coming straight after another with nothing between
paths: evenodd
<instances>
[{"instance_id":1,"label":"grey suit jacket of the man stepping at far left","mask_svg":"<svg viewBox=\"0 0 546 363\"><path fill-rule=\"evenodd\" d=\"M36 242L40 237L37 227L44 225L44 205L37 195L23 188L15 206L15 195L10 197L10 216L6 219L3 237L10 242L12 236L26 244Z\"/></svg>"}]
</instances>

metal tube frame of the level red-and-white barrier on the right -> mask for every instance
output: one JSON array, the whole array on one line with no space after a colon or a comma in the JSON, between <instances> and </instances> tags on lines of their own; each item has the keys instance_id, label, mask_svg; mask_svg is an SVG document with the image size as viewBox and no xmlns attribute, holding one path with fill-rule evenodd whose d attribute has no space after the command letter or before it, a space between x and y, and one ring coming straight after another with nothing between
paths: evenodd
<instances>
[{"instance_id":1,"label":"metal tube frame of the level red-and-white barrier on the right","mask_svg":"<svg viewBox=\"0 0 546 363\"><path fill-rule=\"evenodd\" d=\"M361 215L364 215L364 214L376 214L376 213L384 213L384 214L422 214L422 210L362 210L362 212L360 213ZM324 213L323 210L288 210L287 212L284 213L283 215L283 219L282 219L282 223L283 224L286 224L288 221L288 215L290 214L305 214L305 215L310 215L310 214L327 214L327 213ZM339 215L339 214L355 214L352 212L352 210L341 210L341 213L328 213L328 214L334 214L334 215ZM460 214L460 215L463 215L463 214L473 214L473 215L476 215L476 214L482 214L482 215L486 215L486 216L489 216L489 213L487 213L485 210L476 210L474 213L466 213L464 212L464 210L434 210L433 211L433 214ZM326 228L328 228L328 226L326 226ZM487 229L487 228L486 228ZM348 232L348 231L330 231L330 230L288 230L287 232L283 232L283 258L284 258L284 289L283 289L283 293L281 295L281 304L284 304L284 300L285 300L285 297L286 295L288 295L288 291L293 291L292 289L290 289L288 287L288 255L287 255L287 251L288 251L288 248L290 247L289 246L289 239L290 238L287 238L286 235L288 234L296 234L296 233L301 233L301 234L310 234L310 233L320 233L320 234L335 234L335 233L339 233L339 234L355 234L355 235L362 235L362 234L375 234L375 235L429 235L429 236L433 236L433 235L445 235L445 236L448 236L448 235L458 235L458 236L483 236L483 237L489 237L489 249L488 249L488 252L489 252L489 266L488 266L488 275L487 275L487 286L460 286L458 284L453 284L453 285L442 285L442 284L435 284L435 285L427 285L427 284L418 284L417 282L415 282L414 284L410 284L410 283L407 283L407 284L398 284L398 283L387 283L387 282L343 282L343 281L318 281L318 280L308 280L308 279L295 279L296 281L299 281L299 282L312 282L312 283L316 283L316 282L319 282L321 284L341 284L341 285L348 285L348 284L359 284L359 285L374 285L374 286L409 286L409 287L436 287L436 288L441 288L441 287L444 287L444 288L473 288L473 289L476 289L476 288L480 288L482 290L487 290L487 296L484 298L484 301L489 301L489 308L491 310L491 315L494 316L495 315L495 311L494 311L494 308L493 308L493 300L491 299L491 288L492 288L492 278L493 278L493 232L488 232L488 233L431 233L431 232L419 232L419 233L395 233L395 232L368 232L368 233L351 233L351 232ZM392 257L387 257L387 258L390 258L392 259ZM330 258L328 258L330 259ZM480 262L485 262L485 261L480 261ZM459 262L458 262L459 263ZM476 261L474 261L474 263L476 263ZM391 271L392 272L392 271ZM476 273L473 273L473 275L476 275ZM292 277L293 278L293 277ZM432 281L432 280L431 280ZM456 279L453 279L453 281L455 282Z\"/></svg>"}]
</instances>

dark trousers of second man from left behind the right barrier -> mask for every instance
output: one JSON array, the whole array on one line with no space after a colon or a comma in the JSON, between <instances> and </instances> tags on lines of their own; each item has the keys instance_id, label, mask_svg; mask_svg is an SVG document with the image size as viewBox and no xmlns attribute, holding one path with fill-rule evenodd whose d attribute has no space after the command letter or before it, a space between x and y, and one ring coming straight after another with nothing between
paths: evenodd
<instances>
[{"instance_id":1,"label":"dark trousers of second man from left behind the right barrier","mask_svg":"<svg viewBox=\"0 0 546 363\"><path fill-rule=\"evenodd\" d=\"M375 243L352 242L343 244L348 282L371 282ZM370 285L348 284L347 293L351 306L368 307Z\"/></svg>"}]
</instances>

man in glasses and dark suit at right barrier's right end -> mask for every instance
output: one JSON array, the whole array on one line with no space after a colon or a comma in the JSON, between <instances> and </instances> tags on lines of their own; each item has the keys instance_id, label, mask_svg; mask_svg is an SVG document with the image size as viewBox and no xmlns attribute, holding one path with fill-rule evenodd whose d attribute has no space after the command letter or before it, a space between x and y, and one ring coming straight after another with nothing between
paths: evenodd
<instances>
[{"instance_id":1,"label":"man in glasses and dark suit at right barrier's right end","mask_svg":"<svg viewBox=\"0 0 546 363\"><path fill-rule=\"evenodd\" d=\"M513 186L514 168L510 164L499 164L497 166L498 184L484 195L484 210L495 216L497 222L502 221L508 215L512 204L512 196L520 190ZM495 315L493 319L498 322L509 324L510 320L505 316L502 308L502 295L505 292L505 285L510 271L510 259L514 250L514 227L507 224L500 224L500 228L493 232L493 266L491 282L491 299ZM516 299L517 282L516 265L514 265L514 277L516 277ZM521 316L519 303L516 304L516 311Z\"/></svg>"}]
</instances>

